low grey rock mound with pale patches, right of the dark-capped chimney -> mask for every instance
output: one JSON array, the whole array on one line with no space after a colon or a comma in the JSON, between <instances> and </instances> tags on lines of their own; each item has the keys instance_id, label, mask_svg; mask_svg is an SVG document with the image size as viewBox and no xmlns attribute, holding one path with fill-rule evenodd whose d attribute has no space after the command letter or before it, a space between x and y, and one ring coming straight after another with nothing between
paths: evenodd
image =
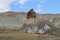
<instances>
[{"instance_id":1,"label":"low grey rock mound with pale patches, right of the dark-capped chimney","mask_svg":"<svg viewBox=\"0 0 60 40\"><path fill-rule=\"evenodd\" d=\"M38 33L44 34L49 33L53 34L56 31L56 27L53 22L49 22L49 20L42 20L37 23Z\"/></svg>"}]
</instances>

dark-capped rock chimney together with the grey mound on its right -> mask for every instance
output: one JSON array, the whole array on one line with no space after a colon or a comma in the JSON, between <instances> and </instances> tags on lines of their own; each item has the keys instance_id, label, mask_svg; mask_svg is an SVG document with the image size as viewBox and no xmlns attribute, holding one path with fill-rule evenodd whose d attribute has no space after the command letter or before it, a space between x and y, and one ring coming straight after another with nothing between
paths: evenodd
<instances>
[{"instance_id":1,"label":"dark-capped rock chimney together with the grey mound on its right","mask_svg":"<svg viewBox=\"0 0 60 40\"><path fill-rule=\"evenodd\" d=\"M31 9L27 13L26 23L25 23L25 31L27 33L52 33L56 30L54 23L49 20L41 20L36 22L36 12Z\"/></svg>"}]
</instances>

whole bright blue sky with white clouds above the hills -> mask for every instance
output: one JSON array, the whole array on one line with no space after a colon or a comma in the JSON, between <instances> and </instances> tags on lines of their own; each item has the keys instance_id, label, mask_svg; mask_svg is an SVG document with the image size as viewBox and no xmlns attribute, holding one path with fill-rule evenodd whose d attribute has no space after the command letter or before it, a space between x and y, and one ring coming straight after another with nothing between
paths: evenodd
<instances>
[{"instance_id":1,"label":"whole bright blue sky with white clouds above the hills","mask_svg":"<svg viewBox=\"0 0 60 40\"><path fill-rule=\"evenodd\" d=\"M28 12L30 9L40 14L59 14L60 0L0 0L0 12Z\"/></svg>"}]
</instances>

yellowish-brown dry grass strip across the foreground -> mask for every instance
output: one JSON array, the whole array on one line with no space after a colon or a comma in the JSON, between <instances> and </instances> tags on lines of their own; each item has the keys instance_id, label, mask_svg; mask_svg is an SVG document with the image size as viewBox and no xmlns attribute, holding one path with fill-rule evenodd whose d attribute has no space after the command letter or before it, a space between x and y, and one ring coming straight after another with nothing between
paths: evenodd
<instances>
[{"instance_id":1,"label":"yellowish-brown dry grass strip across the foreground","mask_svg":"<svg viewBox=\"0 0 60 40\"><path fill-rule=\"evenodd\" d=\"M60 40L60 37L51 35L29 34L17 31L0 31L0 40Z\"/></svg>"}]
</instances>

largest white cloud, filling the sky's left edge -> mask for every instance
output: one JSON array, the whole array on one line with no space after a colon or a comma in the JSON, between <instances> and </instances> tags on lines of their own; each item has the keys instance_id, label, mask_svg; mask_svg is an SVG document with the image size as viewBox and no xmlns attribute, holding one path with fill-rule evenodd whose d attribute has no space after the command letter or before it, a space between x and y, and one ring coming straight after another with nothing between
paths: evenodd
<instances>
[{"instance_id":1,"label":"largest white cloud, filling the sky's left edge","mask_svg":"<svg viewBox=\"0 0 60 40\"><path fill-rule=\"evenodd\" d=\"M0 12L10 11L9 4L14 0L0 0Z\"/></svg>"}]
</instances>

